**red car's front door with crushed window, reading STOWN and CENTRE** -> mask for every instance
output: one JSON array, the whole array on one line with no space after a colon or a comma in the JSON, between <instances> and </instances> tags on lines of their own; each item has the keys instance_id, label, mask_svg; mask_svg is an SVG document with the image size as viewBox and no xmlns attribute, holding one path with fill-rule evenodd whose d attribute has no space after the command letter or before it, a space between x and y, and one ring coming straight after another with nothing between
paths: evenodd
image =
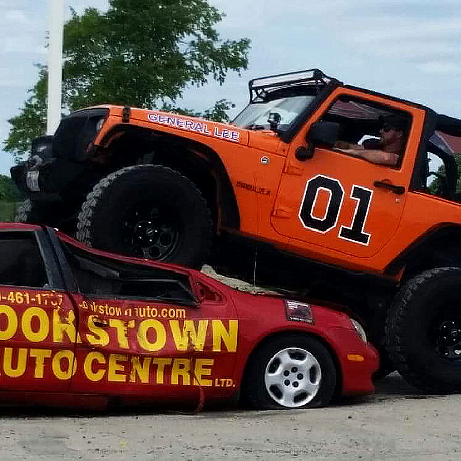
<instances>
[{"instance_id":1,"label":"red car's front door with crushed window, reading STOWN and CENTRE","mask_svg":"<svg viewBox=\"0 0 461 461\"><path fill-rule=\"evenodd\" d=\"M224 370L232 371L238 322L230 300L218 295L199 300L187 269L72 245L68 260L80 291L73 391L198 399L200 388L228 378L216 375L223 367L215 361L224 358ZM216 387L229 392L232 380L218 380Z\"/></svg>"}]
</instances>

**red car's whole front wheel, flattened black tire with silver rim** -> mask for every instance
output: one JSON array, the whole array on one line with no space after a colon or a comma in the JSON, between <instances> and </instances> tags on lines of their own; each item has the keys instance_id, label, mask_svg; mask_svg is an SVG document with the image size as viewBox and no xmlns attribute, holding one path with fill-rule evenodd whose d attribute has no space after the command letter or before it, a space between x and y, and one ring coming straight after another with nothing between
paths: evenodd
<instances>
[{"instance_id":1,"label":"red car's whole front wheel, flattened black tire with silver rim","mask_svg":"<svg viewBox=\"0 0 461 461\"><path fill-rule=\"evenodd\" d=\"M336 388L336 367L317 339L286 334L265 342L248 363L243 396L254 408L275 410L327 405Z\"/></svg>"}]
</instances>

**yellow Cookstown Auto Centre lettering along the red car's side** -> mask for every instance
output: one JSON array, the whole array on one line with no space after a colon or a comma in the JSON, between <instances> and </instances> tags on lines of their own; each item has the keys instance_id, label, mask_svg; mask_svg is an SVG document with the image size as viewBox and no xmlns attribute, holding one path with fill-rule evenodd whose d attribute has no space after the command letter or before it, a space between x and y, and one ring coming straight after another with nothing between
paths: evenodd
<instances>
[{"instance_id":1,"label":"yellow Cookstown Auto Centre lettering along the red car's side","mask_svg":"<svg viewBox=\"0 0 461 461\"><path fill-rule=\"evenodd\" d=\"M14 302L20 300L20 296L23 301L26 299L22 292L10 294ZM60 306L45 310L26 304L26 309L19 313L11 305L0 304L0 381L2 376L20 378L23 375L69 380L77 373L92 382L234 387L232 379L213 376L214 358L195 357L195 353L235 353L237 319L176 320L185 317L183 309L165 308L162 312L156 307L146 308L144 312L139 310L141 318L137 319L99 318L91 313L93 308L104 313L113 311L115 315L120 311L116 306L91 305L87 306L88 315L81 312L82 325L77 329L73 310ZM142 319L147 313L150 318ZM165 320L161 322L154 317ZM24 338L35 347L2 347L3 341L14 337ZM40 348L44 341L48 347L50 342L68 348L75 343L85 343L93 349L100 346L101 350L83 349L77 360L70 349ZM108 349L106 353L104 347ZM165 348L172 356L158 357L156 352ZM114 349L122 350L112 353ZM174 357L175 351L192 352L192 357Z\"/></svg>"}]
</instances>

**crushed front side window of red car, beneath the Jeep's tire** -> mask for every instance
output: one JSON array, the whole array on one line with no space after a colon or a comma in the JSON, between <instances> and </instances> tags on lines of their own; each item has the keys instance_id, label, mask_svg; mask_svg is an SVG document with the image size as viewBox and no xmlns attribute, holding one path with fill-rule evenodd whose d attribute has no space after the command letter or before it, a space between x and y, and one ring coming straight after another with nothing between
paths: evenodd
<instances>
[{"instance_id":1,"label":"crushed front side window of red car, beneath the Jeep's tire","mask_svg":"<svg viewBox=\"0 0 461 461\"><path fill-rule=\"evenodd\" d=\"M83 294L196 302L187 275L102 257L62 244L78 289Z\"/></svg>"}]
</instances>

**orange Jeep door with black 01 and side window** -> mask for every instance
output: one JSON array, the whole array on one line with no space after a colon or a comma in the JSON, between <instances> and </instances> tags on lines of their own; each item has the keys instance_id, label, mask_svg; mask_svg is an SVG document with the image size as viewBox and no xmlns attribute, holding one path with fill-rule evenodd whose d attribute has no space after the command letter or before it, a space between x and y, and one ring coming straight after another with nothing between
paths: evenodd
<instances>
[{"instance_id":1,"label":"orange Jeep door with black 01 and side window","mask_svg":"<svg viewBox=\"0 0 461 461\"><path fill-rule=\"evenodd\" d=\"M347 107L335 113L332 108L341 101L352 101L355 113ZM410 121L405 152L396 167L319 146L312 158L297 159L297 150L306 147L308 130L316 121L330 117L358 127L361 118L370 125L373 117L396 111ZM291 245L313 252L326 247L359 258L379 252L399 226L423 119L423 110L401 102L393 101L390 107L384 97L335 90L290 144L271 217L276 231L290 237Z\"/></svg>"}]
</instances>

